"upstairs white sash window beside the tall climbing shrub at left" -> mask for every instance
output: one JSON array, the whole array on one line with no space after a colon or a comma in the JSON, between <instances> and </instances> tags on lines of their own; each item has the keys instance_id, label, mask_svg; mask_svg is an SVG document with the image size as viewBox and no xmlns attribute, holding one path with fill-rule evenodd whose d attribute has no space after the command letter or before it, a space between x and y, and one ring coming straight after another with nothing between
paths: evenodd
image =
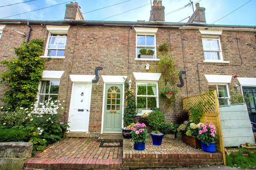
<instances>
[{"instance_id":1,"label":"upstairs white sash window beside the tall climbing shrub at left","mask_svg":"<svg viewBox=\"0 0 256 170\"><path fill-rule=\"evenodd\" d=\"M49 33L45 56L63 57L65 56L67 34Z\"/></svg>"}]
</instances>

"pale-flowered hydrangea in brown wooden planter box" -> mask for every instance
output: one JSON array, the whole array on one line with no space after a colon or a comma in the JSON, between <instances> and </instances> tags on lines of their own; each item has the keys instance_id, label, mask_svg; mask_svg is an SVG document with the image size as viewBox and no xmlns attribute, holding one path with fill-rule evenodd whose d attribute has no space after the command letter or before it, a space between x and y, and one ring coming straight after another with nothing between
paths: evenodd
<instances>
[{"instance_id":1,"label":"pale-flowered hydrangea in brown wooden planter box","mask_svg":"<svg viewBox=\"0 0 256 170\"><path fill-rule=\"evenodd\" d=\"M198 125L189 121L187 132L182 134L182 141L196 149L201 148L201 141L197 138L199 132Z\"/></svg>"}]
</instances>

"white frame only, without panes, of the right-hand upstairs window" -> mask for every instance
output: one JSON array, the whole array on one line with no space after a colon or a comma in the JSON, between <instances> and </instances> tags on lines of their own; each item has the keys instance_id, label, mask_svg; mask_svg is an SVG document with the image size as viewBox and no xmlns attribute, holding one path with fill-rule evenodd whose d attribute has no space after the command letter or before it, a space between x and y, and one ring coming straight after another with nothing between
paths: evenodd
<instances>
[{"instance_id":1,"label":"white frame only, without panes, of the right-hand upstairs window","mask_svg":"<svg viewBox=\"0 0 256 170\"><path fill-rule=\"evenodd\" d=\"M219 36L203 36L202 37L202 44L203 44L203 40L218 40L219 47L220 47L219 50L211 50L211 49L204 49L204 46L203 46L203 52L205 52L205 51L207 51L207 52L219 52L219 55L220 55L220 60L209 60L209 59L206 60L205 56L204 56L204 62L217 62L217 63L218 62L224 62L223 61L223 55L222 55L221 43L220 43L220 37Z\"/></svg>"}]
</instances>

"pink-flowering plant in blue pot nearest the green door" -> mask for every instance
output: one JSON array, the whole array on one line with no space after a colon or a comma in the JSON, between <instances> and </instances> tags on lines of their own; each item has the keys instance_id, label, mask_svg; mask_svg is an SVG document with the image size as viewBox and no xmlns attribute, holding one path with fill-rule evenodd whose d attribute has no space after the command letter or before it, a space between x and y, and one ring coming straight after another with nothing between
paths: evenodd
<instances>
[{"instance_id":1,"label":"pink-flowering plant in blue pot nearest the green door","mask_svg":"<svg viewBox=\"0 0 256 170\"><path fill-rule=\"evenodd\" d=\"M148 131L144 123L136 123L132 128L132 141L135 150L145 150L145 143L148 140Z\"/></svg>"}]
</instances>

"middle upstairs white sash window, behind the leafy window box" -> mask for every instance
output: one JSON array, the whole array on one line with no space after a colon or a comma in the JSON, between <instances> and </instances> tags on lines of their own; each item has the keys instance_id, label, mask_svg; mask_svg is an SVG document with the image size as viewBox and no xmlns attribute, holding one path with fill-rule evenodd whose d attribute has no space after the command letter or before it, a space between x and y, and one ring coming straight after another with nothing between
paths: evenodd
<instances>
[{"instance_id":1,"label":"middle upstairs white sash window, behind the leafy window box","mask_svg":"<svg viewBox=\"0 0 256 170\"><path fill-rule=\"evenodd\" d=\"M136 44L136 56L137 58L156 59L156 36L155 35L137 35ZM140 49L150 49L154 51L154 54L140 54Z\"/></svg>"}]
</instances>

